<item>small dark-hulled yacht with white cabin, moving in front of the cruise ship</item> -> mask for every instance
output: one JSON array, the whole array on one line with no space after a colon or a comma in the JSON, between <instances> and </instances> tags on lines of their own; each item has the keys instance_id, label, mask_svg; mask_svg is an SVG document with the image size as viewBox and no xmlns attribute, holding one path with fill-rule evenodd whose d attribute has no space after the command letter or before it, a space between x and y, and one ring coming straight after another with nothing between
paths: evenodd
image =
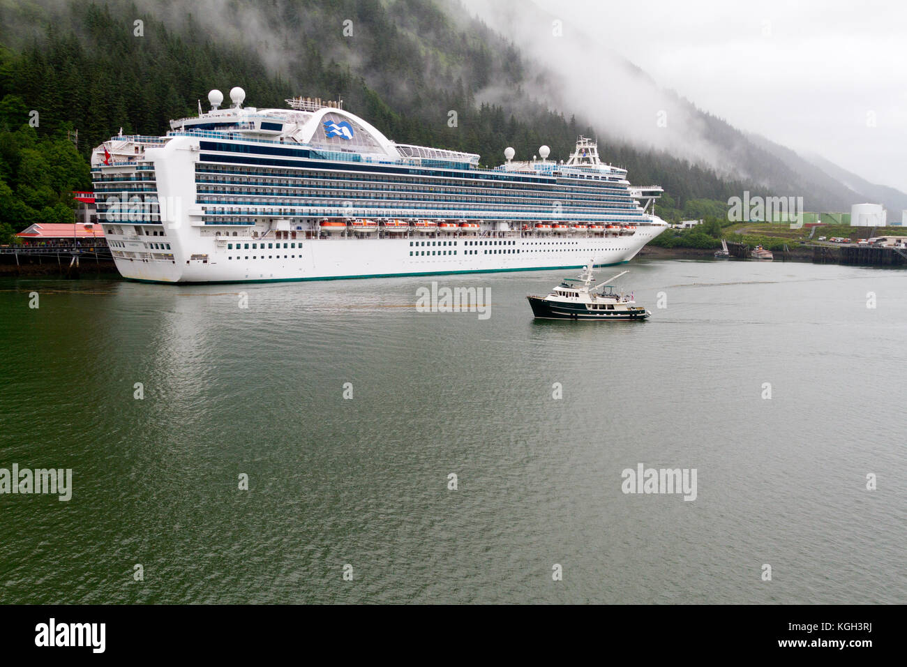
<instances>
[{"instance_id":1,"label":"small dark-hulled yacht with white cabin, moving in front of the cruise ship","mask_svg":"<svg viewBox=\"0 0 907 667\"><path fill-rule=\"evenodd\" d=\"M547 297L528 296L532 314L536 319L597 319L634 320L647 319L652 313L637 306L632 294L618 293L608 283L624 273L592 287L592 263L579 278L565 279L551 290ZM605 287L608 285L607 287Z\"/></svg>"}]
</instances>

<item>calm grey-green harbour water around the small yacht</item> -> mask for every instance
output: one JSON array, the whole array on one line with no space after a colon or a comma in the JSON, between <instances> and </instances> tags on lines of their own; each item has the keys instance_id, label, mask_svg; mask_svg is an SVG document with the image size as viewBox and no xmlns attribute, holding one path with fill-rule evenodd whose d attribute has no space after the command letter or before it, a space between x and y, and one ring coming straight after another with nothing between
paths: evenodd
<instances>
[{"instance_id":1,"label":"calm grey-green harbour water around the small yacht","mask_svg":"<svg viewBox=\"0 0 907 667\"><path fill-rule=\"evenodd\" d=\"M425 278L0 281L0 468L73 470L0 495L0 602L907 602L907 273L629 268L647 322L533 321L560 271L431 279L488 319Z\"/></svg>"}]
</instances>

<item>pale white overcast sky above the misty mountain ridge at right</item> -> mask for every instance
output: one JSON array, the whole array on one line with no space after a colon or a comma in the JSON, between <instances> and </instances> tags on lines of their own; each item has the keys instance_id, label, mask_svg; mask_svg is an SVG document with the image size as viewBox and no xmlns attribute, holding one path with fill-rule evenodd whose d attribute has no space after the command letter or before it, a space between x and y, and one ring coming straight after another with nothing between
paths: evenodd
<instances>
[{"instance_id":1,"label":"pale white overcast sky above the misty mountain ridge at right","mask_svg":"<svg viewBox=\"0 0 907 667\"><path fill-rule=\"evenodd\" d=\"M514 1L582 25L741 130L907 191L907 2Z\"/></svg>"}]
</instances>

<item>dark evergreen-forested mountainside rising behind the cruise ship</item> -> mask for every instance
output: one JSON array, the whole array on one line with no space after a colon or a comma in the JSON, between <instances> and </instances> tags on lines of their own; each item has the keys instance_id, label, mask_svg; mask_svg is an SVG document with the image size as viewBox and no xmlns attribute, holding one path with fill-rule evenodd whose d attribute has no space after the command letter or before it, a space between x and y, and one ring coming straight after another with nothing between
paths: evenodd
<instances>
[{"instance_id":1,"label":"dark evergreen-forested mountainside rising behind the cruise ship","mask_svg":"<svg viewBox=\"0 0 907 667\"><path fill-rule=\"evenodd\" d=\"M477 152L486 165L506 146L526 159L543 143L565 159L578 134L598 136L633 182L665 188L659 211L673 218L765 186L609 139L569 99L533 101L517 47L434 0L12 0L0 5L0 46L0 221L15 229L66 218L69 191L90 189L84 158L121 127L161 134L211 88L234 85L258 107L341 98L397 142ZM504 101L477 102L491 88Z\"/></svg>"}]
</instances>

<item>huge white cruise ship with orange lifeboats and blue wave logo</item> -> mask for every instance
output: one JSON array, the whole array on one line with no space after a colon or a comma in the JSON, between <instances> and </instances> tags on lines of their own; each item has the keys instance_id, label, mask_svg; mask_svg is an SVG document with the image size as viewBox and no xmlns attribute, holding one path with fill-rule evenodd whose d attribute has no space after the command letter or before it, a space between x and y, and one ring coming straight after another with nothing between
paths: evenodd
<instances>
[{"instance_id":1,"label":"huge white cruise ship with orange lifeboats and blue wave logo","mask_svg":"<svg viewBox=\"0 0 907 667\"><path fill-rule=\"evenodd\" d=\"M479 155L396 143L341 101L231 104L166 136L94 149L98 220L124 278L329 280L570 269L631 260L668 225L658 186L634 188L580 137L569 160L493 169Z\"/></svg>"}]
</instances>

